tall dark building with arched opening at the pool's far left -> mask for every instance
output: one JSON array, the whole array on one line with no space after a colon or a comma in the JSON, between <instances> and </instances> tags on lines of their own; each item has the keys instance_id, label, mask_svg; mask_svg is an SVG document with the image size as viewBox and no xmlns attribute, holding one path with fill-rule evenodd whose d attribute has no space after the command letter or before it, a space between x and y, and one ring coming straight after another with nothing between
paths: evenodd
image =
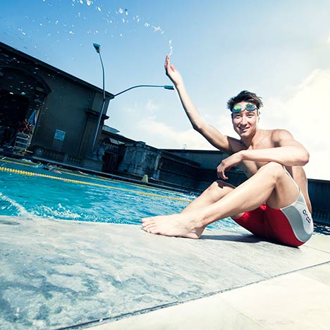
<instances>
[{"instance_id":1,"label":"tall dark building with arched opening at the pool's far left","mask_svg":"<svg viewBox=\"0 0 330 330\"><path fill-rule=\"evenodd\" d=\"M97 141L111 97L106 92ZM100 170L103 164L95 157L92 143L102 101L98 87L0 43L3 149L15 149L17 134L25 134L29 135L27 152L36 157Z\"/></svg>"}]
</instances>

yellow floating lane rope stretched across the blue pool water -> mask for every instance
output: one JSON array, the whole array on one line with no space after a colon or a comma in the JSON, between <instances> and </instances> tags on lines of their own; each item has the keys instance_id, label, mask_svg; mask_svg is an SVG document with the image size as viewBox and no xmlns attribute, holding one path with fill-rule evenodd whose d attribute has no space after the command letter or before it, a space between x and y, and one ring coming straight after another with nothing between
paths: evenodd
<instances>
[{"instance_id":1,"label":"yellow floating lane rope stretched across the blue pool water","mask_svg":"<svg viewBox=\"0 0 330 330\"><path fill-rule=\"evenodd\" d=\"M152 194L152 193L145 193L143 191L136 191L136 190L130 190L130 189L126 189L126 188L112 187L112 186L109 186L109 185L101 185L99 183L78 181L78 180L72 180L72 179L68 179L68 178L60 178L59 176L47 176L46 174L39 174L39 173L30 172L30 171L20 171L20 170L16 170L16 169L7 169L6 167L0 167L0 171L9 172L9 173L16 173L16 174L20 174L20 175L23 175L23 176L41 176L42 178L51 178L51 179L54 179L54 180L60 180L60 181L65 181L65 182L70 182L70 183L78 183L78 184L81 184L81 185L93 185L93 186L102 187L102 188L128 191L130 193L135 193L135 194L140 194L140 195L145 195L145 196L152 196L152 197L159 197L159 198L166 198L168 200L178 200L180 202L188 202L188 203L191 202L191 200L185 200L183 198L178 198L178 197L162 196L162 195L157 195L157 194Z\"/></svg>"}]
</instances>

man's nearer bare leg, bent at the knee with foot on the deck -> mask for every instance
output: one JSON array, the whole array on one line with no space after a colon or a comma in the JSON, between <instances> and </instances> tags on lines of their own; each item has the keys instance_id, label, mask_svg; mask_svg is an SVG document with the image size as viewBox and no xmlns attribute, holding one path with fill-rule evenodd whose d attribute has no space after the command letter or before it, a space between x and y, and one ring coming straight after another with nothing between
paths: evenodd
<instances>
[{"instance_id":1,"label":"man's nearer bare leg, bent at the knee with foot on the deck","mask_svg":"<svg viewBox=\"0 0 330 330\"><path fill-rule=\"evenodd\" d=\"M283 166L270 162L238 188L204 209L145 218L142 219L142 227L149 233L200 238L204 228L218 219L256 209L264 202L273 208L286 207L295 202L298 193L297 186Z\"/></svg>"}]
</instances>

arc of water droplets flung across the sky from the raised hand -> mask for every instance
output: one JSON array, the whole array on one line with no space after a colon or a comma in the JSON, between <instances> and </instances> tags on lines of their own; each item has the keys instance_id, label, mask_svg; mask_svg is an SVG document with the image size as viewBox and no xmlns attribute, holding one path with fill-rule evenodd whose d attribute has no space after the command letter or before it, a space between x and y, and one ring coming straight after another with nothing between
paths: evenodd
<instances>
[{"instance_id":1,"label":"arc of water droplets flung across the sky from the raised hand","mask_svg":"<svg viewBox=\"0 0 330 330\"><path fill-rule=\"evenodd\" d=\"M98 38L125 38L128 34L145 30L164 40L164 45L169 47L167 52L173 54L172 39L163 27L147 21L134 10L124 6L114 7L111 1L105 0L39 0L36 14L25 15L20 21L2 16L0 20L6 28L1 37L3 42L30 49L30 55L42 56L44 61L49 62L52 49L59 45L63 47L63 42L68 42L70 47L75 44L85 48L87 44L81 40L90 40L93 35ZM59 14L57 17L56 13ZM71 24L73 20L76 22L74 27Z\"/></svg>"}]
</instances>

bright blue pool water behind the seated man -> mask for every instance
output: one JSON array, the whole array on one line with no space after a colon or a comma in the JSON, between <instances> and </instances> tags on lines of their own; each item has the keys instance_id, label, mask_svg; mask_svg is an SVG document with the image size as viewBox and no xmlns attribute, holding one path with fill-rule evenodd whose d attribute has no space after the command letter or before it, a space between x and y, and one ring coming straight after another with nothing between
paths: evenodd
<instances>
[{"instance_id":1,"label":"bright blue pool water behind the seated man","mask_svg":"<svg viewBox=\"0 0 330 330\"><path fill-rule=\"evenodd\" d=\"M0 167L6 169L0 171L1 215L140 225L145 216L181 212L195 197L78 171L55 169L60 171L56 173L42 164L17 159L0 159ZM238 230L239 226L229 218L208 228Z\"/></svg>"}]
</instances>

